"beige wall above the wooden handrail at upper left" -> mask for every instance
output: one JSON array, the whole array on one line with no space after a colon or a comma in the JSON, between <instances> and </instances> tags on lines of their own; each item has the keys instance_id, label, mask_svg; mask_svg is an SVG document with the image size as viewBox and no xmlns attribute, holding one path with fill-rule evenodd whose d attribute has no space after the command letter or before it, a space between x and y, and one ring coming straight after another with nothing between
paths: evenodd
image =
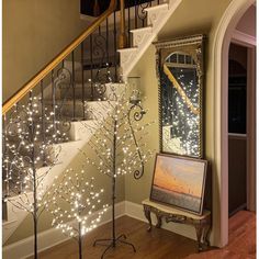
<instances>
[{"instance_id":1,"label":"beige wall above the wooden handrail at upper left","mask_svg":"<svg viewBox=\"0 0 259 259\"><path fill-rule=\"evenodd\" d=\"M10 98L89 24L79 0L2 1L3 101Z\"/></svg>"}]
</instances>

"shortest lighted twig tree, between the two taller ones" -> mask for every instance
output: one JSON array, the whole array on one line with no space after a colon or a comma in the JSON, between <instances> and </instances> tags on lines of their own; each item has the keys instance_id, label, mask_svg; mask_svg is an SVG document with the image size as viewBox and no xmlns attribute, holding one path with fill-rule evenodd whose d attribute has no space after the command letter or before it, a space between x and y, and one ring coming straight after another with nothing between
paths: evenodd
<instances>
[{"instance_id":1,"label":"shortest lighted twig tree, between the two taller ones","mask_svg":"<svg viewBox=\"0 0 259 259\"><path fill-rule=\"evenodd\" d=\"M67 169L48 192L52 225L78 243L79 259L82 259L83 235L98 226L108 210L106 204L101 205L103 189L97 191L93 181L94 178L88 180L85 170L77 173Z\"/></svg>"}]
</instances>

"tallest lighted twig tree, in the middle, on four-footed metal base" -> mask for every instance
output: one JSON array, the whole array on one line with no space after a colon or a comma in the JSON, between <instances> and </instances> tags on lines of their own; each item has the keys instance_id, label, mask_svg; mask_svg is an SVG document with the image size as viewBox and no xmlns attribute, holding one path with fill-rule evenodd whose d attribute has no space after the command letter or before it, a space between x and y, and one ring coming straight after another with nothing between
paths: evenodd
<instances>
[{"instance_id":1,"label":"tallest lighted twig tree, in the middle, on four-footed metal base","mask_svg":"<svg viewBox=\"0 0 259 259\"><path fill-rule=\"evenodd\" d=\"M100 102L100 109L91 111L94 125L83 124L88 131L93 133L89 146L93 150L94 157L90 157L85 151L82 154L89 165L110 177L112 181L112 237L95 240L93 244L95 246L103 241L110 243L101 258L110 248L116 247L117 243L128 245L136 251L133 244L125 241L124 234L116 236L116 178L131 172L134 172L136 179L140 178L144 173L144 164L153 154L150 150L145 150L146 144L144 143L144 138L148 134L145 130L151 123L138 124L146 113L140 104L139 92L135 90L130 98L128 87L121 85L116 89L117 91L112 89L106 105ZM119 91L121 93L117 93Z\"/></svg>"}]
</instances>

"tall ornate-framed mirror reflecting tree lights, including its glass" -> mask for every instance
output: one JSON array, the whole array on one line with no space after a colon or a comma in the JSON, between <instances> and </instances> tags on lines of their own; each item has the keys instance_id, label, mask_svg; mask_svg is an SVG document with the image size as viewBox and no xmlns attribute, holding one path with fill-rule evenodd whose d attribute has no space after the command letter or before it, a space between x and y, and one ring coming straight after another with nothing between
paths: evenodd
<instances>
[{"instance_id":1,"label":"tall ornate-framed mirror reflecting tree lights, including its glass","mask_svg":"<svg viewBox=\"0 0 259 259\"><path fill-rule=\"evenodd\" d=\"M204 35L156 46L160 151L203 157Z\"/></svg>"}]
</instances>

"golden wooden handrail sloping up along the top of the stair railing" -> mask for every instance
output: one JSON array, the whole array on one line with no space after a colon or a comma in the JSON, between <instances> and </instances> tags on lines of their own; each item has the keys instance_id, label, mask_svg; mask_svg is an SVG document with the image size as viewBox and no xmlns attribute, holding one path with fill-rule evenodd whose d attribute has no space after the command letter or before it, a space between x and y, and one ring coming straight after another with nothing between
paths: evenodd
<instances>
[{"instance_id":1,"label":"golden wooden handrail sloping up along the top of the stair railing","mask_svg":"<svg viewBox=\"0 0 259 259\"><path fill-rule=\"evenodd\" d=\"M92 24L80 34L71 44L65 47L50 63L48 63L36 76L26 82L2 105L2 114L5 114L15 103L29 93L41 80L46 77L58 64L60 64L77 46L79 46L90 34L92 34L105 19L115 11L117 0L111 0L110 5Z\"/></svg>"}]
</instances>

